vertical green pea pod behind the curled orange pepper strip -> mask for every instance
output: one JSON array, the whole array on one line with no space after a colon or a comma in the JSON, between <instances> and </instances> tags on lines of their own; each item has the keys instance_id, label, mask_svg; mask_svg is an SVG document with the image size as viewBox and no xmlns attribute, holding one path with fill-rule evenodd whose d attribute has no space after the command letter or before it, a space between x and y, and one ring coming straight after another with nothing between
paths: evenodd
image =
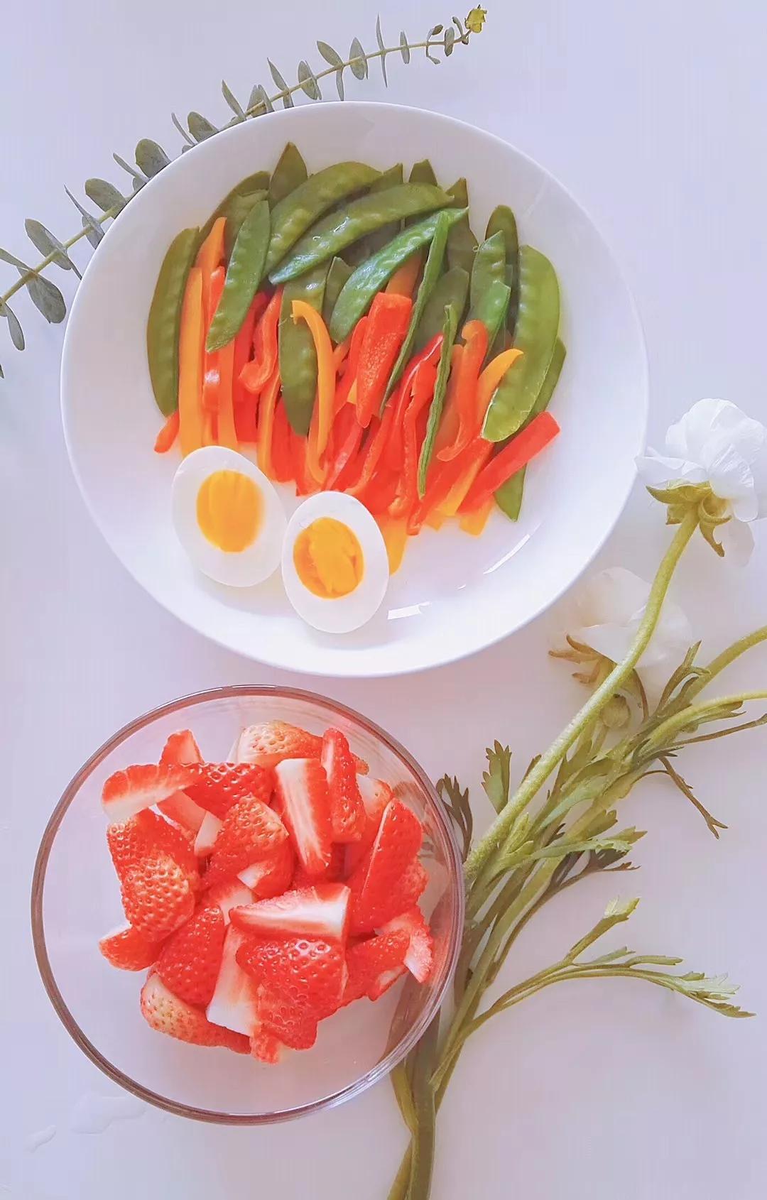
<instances>
[{"instance_id":1,"label":"vertical green pea pod behind the curled orange pepper strip","mask_svg":"<svg viewBox=\"0 0 767 1200\"><path fill-rule=\"evenodd\" d=\"M293 320L293 301L306 300L322 312L328 269L314 268L300 280L290 280L280 307L280 378L284 410L295 433L305 437L312 419L317 391L317 352L306 322Z\"/></svg>"}]
</instances>

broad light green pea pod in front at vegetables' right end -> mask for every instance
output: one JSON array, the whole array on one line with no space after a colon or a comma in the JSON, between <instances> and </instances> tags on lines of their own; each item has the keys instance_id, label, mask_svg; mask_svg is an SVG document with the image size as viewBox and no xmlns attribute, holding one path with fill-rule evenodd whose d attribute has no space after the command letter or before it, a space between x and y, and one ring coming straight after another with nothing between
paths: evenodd
<instances>
[{"instance_id":1,"label":"broad light green pea pod in front at vegetables' right end","mask_svg":"<svg viewBox=\"0 0 767 1200\"><path fill-rule=\"evenodd\" d=\"M522 358L498 384L483 436L503 442L525 424L543 388L559 330L559 284L553 266L532 246L520 250L520 312L514 344Z\"/></svg>"}]
</instances>

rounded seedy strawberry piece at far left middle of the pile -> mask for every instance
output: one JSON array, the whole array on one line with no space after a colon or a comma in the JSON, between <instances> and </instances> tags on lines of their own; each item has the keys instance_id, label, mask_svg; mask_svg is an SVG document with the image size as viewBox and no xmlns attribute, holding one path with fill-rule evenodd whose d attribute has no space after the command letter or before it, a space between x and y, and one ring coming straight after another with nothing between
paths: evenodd
<instances>
[{"instance_id":1,"label":"rounded seedy strawberry piece at far left middle of the pile","mask_svg":"<svg viewBox=\"0 0 767 1200\"><path fill-rule=\"evenodd\" d=\"M152 851L127 871L122 907L138 932L164 937L192 916L194 893L179 864L163 851Z\"/></svg>"}]
</instances>

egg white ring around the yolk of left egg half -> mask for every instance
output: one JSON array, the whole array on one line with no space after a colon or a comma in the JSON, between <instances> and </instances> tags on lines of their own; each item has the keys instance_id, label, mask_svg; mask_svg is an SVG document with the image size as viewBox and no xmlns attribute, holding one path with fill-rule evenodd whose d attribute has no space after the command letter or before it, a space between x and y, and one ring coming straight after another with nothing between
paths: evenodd
<instances>
[{"instance_id":1,"label":"egg white ring around the yolk of left egg half","mask_svg":"<svg viewBox=\"0 0 767 1200\"><path fill-rule=\"evenodd\" d=\"M197 496L217 470L238 470L252 479L263 498L262 526L256 540L232 553L208 541L197 521ZM258 467L226 446L203 446L187 455L173 479L170 496L176 536L194 566L217 583L248 588L276 571L280 564L286 517L270 480Z\"/></svg>"}]
</instances>

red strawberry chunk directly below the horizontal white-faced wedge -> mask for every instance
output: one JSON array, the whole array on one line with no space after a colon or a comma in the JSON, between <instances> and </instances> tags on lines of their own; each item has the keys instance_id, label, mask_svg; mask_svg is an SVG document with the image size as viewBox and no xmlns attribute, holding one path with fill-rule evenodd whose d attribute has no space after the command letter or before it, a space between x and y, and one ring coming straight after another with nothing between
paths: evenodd
<instances>
[{"instance_id":1,"label":"red strawberry chunk directly below the horizontal white-faced wedge","mask_svg":"<svg viewBox=\"0 0 767 1200\"><path fill-rule=\"evenodd\" d=\"M311 1009L317 1019L335 1013L341 1003L344 959L338 942L245 937L236 960L257 983L299 1008Z\"/></svg>"}]
</instances>

